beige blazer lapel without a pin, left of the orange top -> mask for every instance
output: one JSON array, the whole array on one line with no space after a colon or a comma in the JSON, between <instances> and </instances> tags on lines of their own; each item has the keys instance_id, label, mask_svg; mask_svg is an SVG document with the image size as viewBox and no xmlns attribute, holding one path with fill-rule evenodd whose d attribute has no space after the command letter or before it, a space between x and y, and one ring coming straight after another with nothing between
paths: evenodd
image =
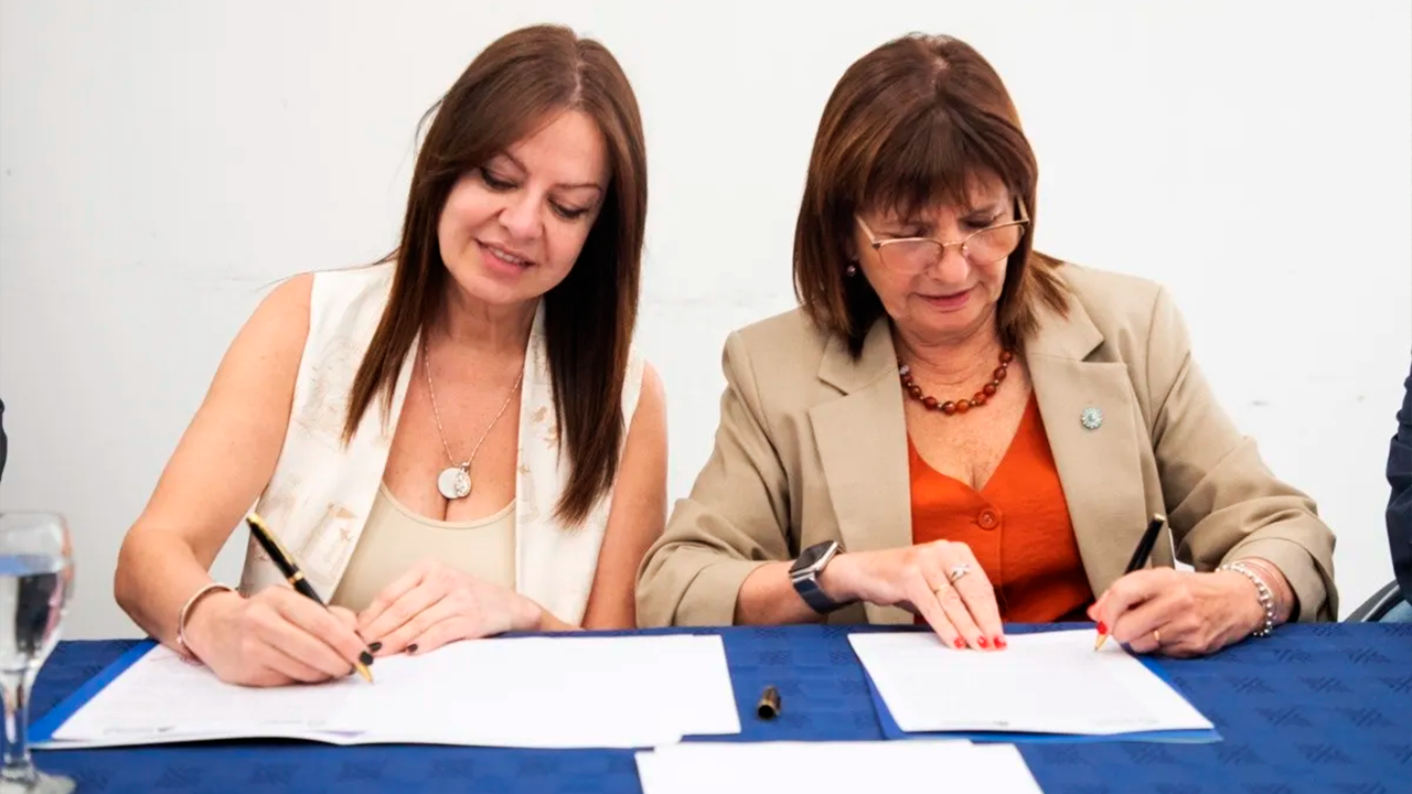
<instances>
[{"instance_id":1,"label":"beige blazer lapel without a pin, left of the orange top","mask_svg":"<svg viewBox=\"0 0 1412 794\"><path fill-rule=\"evenodd\" d=\"M912 543L907 424L897 355L887 322L877 322L853 360L837 340L825 349L819 379L843 394L809 411L819 459L847 551ZM870 623L911 623L898 608L864 605Z\"/></svg>"}]
</instances>

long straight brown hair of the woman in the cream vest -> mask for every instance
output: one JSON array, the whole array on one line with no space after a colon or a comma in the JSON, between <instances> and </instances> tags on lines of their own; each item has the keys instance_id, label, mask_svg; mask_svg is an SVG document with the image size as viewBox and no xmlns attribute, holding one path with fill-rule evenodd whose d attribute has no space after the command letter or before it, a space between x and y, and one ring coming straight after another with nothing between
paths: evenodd
<instances>
[{"instance_id":1,"label":"long straight brown hair of the woman in the cream vest","mask_svg":"<svg viewBox=\"0 0 1412 794\"><path fill-rule=\"evenodd\" d=\"M627 75L599 42L559 25L494 41L422 117L432 119L412 171L391 297L349 398L343 439L376 396L384 418L402 360L448 291L436 225L456 181L555 114L580 110L607 141L603 209L569 275L544 295L544 324L569 483L556 513L580 523L617 475L626 435L623 379L637 324L647 225L647 148Z\"/></svg>"}]
</instances>

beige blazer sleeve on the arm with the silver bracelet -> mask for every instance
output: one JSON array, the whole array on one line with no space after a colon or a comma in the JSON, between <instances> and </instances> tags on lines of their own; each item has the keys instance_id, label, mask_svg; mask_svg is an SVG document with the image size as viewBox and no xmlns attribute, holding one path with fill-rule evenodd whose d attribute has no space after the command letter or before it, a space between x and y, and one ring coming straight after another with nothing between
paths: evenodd
<instances>
[{"instance_id":1,"label":"beige blazer sleeve on the arm with the silver bracelet","mask_svg":"<svg viewBox=\"0 0 1412 794\"><path fill-rule=\"evenodd\" d=\"M1217 404L1165 290L1152 309L1147 366L1152 445L1178 557L1197 571L1264 558L1289 581L1299 620L1336 620L1333 533L1315 502L1276 479Z\"/></svg>"}]
</instances>

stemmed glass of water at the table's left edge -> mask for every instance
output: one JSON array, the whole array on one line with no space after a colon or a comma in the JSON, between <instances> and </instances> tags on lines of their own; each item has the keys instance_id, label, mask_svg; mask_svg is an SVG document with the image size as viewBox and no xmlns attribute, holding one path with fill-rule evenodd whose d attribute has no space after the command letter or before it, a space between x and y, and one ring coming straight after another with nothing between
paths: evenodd
<instances>
[{"instance_id":1,"label":"stemmed glass of water at the table's left edge","mask_svg":"<svg viewBox=\"0 0 1412 794\"><path fill-rule=\"evenodd\" d=\"M0 794L66 794L68 777L45 774L30 757L30 688L59 641L73 589L73 550L64 516L0 513L0 688L4 766Z\"/></svg>"}]
</instances>

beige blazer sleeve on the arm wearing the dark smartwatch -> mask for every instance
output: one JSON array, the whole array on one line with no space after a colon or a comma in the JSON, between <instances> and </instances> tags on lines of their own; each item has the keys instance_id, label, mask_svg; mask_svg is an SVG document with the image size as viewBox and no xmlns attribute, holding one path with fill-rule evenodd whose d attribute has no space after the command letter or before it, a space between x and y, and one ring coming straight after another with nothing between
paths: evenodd
<instances>
[{"instance_id":1,"label":"beige blazer sleeve on the arm wearing the dark smartwatch","mask_svg":"<svg viewBox=\"0 0 1412 794\"><path fill-rule=\"evenodd\" d=\"M789 557L788 478L740 332L727 338L722 363L716 446L638 568L642 627L730 626L746 576Z\"/></svg>"}]
</instances>

